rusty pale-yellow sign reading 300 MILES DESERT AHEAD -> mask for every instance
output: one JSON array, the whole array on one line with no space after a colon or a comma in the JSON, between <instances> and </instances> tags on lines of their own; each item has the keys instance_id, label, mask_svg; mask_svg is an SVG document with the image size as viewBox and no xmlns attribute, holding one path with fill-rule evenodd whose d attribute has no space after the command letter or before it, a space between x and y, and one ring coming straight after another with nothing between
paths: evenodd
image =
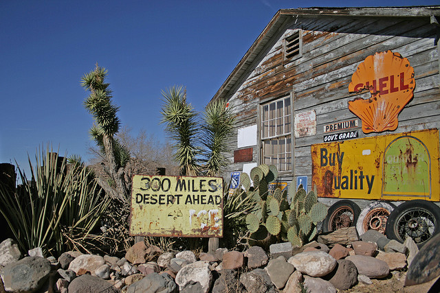
<instances>
[{"instance_id":1,"label":"rusty pale-yellow sign reading 300 MILES DESERT AHEAD","mask_svg":"<svg viewBox=\"0 0 440 293\"><path fill-rule=\"evenodd\" d=\"M223 237L223 178L133 176L130 235Z\"/></svg>"}]
</instances>

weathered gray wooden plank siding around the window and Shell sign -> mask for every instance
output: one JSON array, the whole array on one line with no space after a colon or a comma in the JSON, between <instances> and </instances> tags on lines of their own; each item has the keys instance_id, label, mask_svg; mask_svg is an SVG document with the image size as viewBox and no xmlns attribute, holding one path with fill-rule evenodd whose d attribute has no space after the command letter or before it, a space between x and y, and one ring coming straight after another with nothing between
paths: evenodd
<instances>
[{"instance_id":1,"label":"weathered gray wooden plank siding around the window and Shell sign","mask_svg":"<svg viewBox=\"0 0 440 293\"><path fill-rule=\"evenodd\" d=\"M303 30L303 55L286 62L283 39L295 30ZM439 28L426 19L292 18L274 34L264 55L228 97L236 109L236 129L259 123L257 108L261 101L293 91L294 115L316 111L316 135L294 141L294 176L309 176L311 183L310 145L323 142L326 124L357 118L348 108L349 100L357 96L348 91L351 75L367 56L386 50L408 58L416 79L414 97L399 114L395 132L440 128L438 33ZM353 129L358 130L360 137L385 134L364 134L360 126L361 123ZM255 146L254 162L258 152ZM233 162L232 153L230 158ZM228 172L241 168L242 164L231 163Z\"/></svg>"}]
</instances>

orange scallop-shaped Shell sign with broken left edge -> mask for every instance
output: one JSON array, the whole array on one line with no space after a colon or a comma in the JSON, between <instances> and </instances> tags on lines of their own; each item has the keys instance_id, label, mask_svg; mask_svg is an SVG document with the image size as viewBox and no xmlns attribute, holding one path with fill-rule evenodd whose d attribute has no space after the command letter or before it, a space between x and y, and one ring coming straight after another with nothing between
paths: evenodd
<instances>
[{"instance_id":1,"label":"orange scallop-shaped Shell sign with broken left edge","mask_svg":"<svg viewBox=\"0 0 440 293\"><path fill-rule=\"evenodd\" d=\"M350 93L369 91L371 97L349 101L349 110L362 120L364 133L395 130L397 116L412 99L414 69L407 58L392 51L365 58L351 76Z\"/></svg>"}]
</instances>

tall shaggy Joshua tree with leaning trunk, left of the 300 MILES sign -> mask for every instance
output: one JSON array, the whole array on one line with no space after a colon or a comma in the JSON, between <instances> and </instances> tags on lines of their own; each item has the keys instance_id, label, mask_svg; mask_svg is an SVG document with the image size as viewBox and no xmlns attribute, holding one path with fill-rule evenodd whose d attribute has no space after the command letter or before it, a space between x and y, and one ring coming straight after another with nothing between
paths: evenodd
<instances>
[{"instance_id":1,"label":"tall shaggy Joshua tree with leaning trunk, left of the 300 MILES sign","mask_svg":"<svg viewBox=\"0 0 440 293\"><path fill-rule=\"evenodd\" d=\"M94 126L89 132L104 154L104 170L111 178L111 180L104 180L99 177L97 178L98 184L111 198L126 202L129 186L124 180L124 166L130 159L130 153L115 139L120 120L116 115L118 106L111 101L109 84L104 82L106 76L107 70L96 64L94 71L86 73L81 78L81 86L90 92L85 99L84 106L95 119Z\"/></svg>"}]
</instances>

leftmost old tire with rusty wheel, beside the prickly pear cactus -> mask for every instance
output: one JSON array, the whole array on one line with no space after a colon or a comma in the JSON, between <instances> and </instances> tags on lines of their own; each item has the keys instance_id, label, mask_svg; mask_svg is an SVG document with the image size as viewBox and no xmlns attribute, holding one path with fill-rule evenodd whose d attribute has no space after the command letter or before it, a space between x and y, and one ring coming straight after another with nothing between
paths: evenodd
<instances>
[{"instance_id":1,"label":"leftmost old tire with rusty wheel, beside the prickly pear cactus","mask_svg":"<svg viewBox=\"0 0 440 293\"><path fill-rule=\"evenodd\" d=\"M332 232L340 228L354 226L358 220L360 208L351 200L339 200L333 204L327 212L322 223L322 231Z\"/></svg>"}]
</instances>

